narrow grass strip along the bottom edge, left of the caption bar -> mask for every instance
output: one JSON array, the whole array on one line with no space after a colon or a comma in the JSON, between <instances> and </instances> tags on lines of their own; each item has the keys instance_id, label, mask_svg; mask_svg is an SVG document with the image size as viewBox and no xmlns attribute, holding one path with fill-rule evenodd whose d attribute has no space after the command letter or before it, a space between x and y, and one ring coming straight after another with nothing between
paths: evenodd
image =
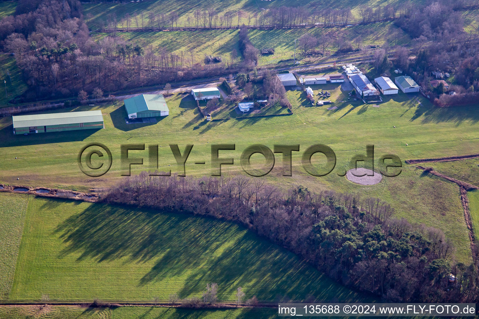
<instances>
[{"instance_id":1,"label":"narrow grass strip along the bottom edge, left of the caption bar","mask_svg":"<svg viewBox=\"0 0 479 319\"><path fill-rule=\"evenodd\" d=\"M194 310L166 307L121 307L105 309L49 306L39 311L39 307L0 307L0 319L30 319L34 315L39 318L49 319L273 319L277 318L277 310L276 308Z\"/></svg>"}]
</instances>

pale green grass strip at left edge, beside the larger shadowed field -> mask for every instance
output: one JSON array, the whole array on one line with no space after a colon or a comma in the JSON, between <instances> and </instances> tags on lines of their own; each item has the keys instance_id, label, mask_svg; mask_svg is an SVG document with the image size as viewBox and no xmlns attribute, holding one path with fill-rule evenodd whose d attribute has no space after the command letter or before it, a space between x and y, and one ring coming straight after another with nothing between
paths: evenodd
<instances>
[{"instance_id":1,"label":"pale green grass strip at left edge, beside the larger shadowed field","mask_svg":"<svg viewBox=\"0 0 479 319\"><path fill-rule=\"evenodd\" d=\"M13 282L28 199L0 193L0 300L8 298Z\"/></svg>"}]
</instances>

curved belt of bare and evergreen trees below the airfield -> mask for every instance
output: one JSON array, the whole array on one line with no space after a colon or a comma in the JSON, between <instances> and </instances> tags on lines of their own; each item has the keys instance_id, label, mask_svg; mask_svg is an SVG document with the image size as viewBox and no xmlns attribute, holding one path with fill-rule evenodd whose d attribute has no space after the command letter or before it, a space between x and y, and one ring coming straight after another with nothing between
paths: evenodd
<instances>
[{"instance_id":1,"label":"curved belt of bare and evergreen trees below the airfield","mask_svg":"<svg viewBox=\"0 0 479 319\"><path fill-rule=\"evenodd\" d=\"M305 187L285 192L244 176L158 178L143 172L122 180L103 201L237 222L343 285L389 302L479 297L477 249L471 264L454 262L442 231L394 218L378 198Z\"/></svg>"}]
</instances>

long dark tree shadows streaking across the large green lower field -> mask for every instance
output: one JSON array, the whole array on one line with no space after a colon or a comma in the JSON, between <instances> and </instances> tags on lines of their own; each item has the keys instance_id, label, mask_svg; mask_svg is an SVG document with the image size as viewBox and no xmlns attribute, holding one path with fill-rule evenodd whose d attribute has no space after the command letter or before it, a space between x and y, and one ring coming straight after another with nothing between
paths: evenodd
<instances>
[{"instance_id":1,"label":"long dark tree shadows streaking across the large green lower field","mask_svg":"<svg viewBox=\"0 0 479 319\"><path fill-rule=\"evenodd\" d=\"M59 258L76 253L77 261L151 264L137 284L182 278L180 297L204 291L213 280L225 297L249 286L250 294L270 301L357 298L294 254L220 220L94 204L60 223L55 234L64 242Z\"/></svg>"}]
</instances>

